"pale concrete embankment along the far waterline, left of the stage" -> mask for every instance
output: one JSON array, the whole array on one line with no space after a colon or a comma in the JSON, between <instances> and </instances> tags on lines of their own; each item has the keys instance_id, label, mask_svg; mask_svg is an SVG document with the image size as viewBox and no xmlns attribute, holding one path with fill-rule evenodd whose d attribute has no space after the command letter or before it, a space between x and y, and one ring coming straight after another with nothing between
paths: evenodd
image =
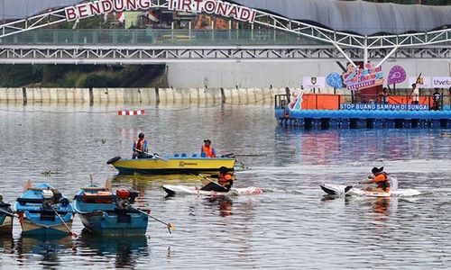
<instances>
[{"instance_id":1,"label":"pale concrete embankment along the far waterline, left of the stage","mask_svg":"<svg viewBox=\"0 0 451 270\"><path fill-rule=\"evenodd\" d=\"M285 88L0 88L0 103L273 103Z\"/></svg>"}]
</instances>

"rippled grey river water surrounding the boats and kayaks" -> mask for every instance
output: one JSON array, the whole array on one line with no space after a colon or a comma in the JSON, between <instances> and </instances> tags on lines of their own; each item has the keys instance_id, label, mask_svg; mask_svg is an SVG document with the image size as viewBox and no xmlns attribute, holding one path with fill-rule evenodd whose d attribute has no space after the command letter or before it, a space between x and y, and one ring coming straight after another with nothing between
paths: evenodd
<instances>
[{"instance_id":1,"label":"rippled grey river water surrounding the boats and kayaks","mask_svg":"<svg viewBox=\"0 0 451 270\"><path fill-rule=\"evenodd\" d=\"M5 201L26 179L48 182L73 198L89 181L137 188L152 215L139 238L98 238L76 216L71 238L0 238L0 268L135 269L447 269L451 263L449 130L301 130L278 126L272 106L143 107L118 116L115 106L0 105ZM129 107L129 109L138 109ZM254 196L165 198L161 184L200 184L194 177L118 176L110 157L131 156L138 132L161 155L198 152L211 139L234 152L236 187ZM411 198L337 198L321 183L354 184L373 166L396 175ZM43 175L51 171L51 175ZM58 172L57 174L53 174Z\"/></svg>"}]
</instances>

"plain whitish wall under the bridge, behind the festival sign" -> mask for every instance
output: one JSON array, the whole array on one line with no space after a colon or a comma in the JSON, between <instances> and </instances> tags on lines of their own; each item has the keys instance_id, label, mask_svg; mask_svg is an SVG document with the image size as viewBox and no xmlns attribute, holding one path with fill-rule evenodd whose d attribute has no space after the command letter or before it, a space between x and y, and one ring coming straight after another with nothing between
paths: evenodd
<instances>
[{"instance_id":1,"label":"plain whitish wall under the bridge, behind the festival sign","mask_svg":"<svg viewBox=\"0 0 451 270\"><path fill-rule=\"evenodd\" d=\"M380 59L374 60L377 63ZM345 60L341 63L345 66ZM384 76L391 67L404 67L407 76L451 76L451 59L403 59L386 62L382 66ZM168 81L174 88L204 87L299 87L303 76L327 76L341 73L335 60L299 60L237 63L168 63ZM410 87L407 80L397 87Z\"/></svg>"}]
</instances>

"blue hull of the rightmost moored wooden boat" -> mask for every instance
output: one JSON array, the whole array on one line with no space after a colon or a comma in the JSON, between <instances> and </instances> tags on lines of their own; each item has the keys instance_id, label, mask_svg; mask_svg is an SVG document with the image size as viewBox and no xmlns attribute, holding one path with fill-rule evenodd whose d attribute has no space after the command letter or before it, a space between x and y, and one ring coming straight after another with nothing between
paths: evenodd
<instances>
[{"instance_id":1,"label":"blue hull of the rightmost moored wooden boat","mask_svg":"<svg viewBox=\"0 0 451 270\"><path fill-rule=\"evenodd\" d=\"M122 218L106 211L80 213L79 216L87 230L109 236L143 235L149 221L147 215L136 212L126 213Z\"/></svg>"}]
</instances>

